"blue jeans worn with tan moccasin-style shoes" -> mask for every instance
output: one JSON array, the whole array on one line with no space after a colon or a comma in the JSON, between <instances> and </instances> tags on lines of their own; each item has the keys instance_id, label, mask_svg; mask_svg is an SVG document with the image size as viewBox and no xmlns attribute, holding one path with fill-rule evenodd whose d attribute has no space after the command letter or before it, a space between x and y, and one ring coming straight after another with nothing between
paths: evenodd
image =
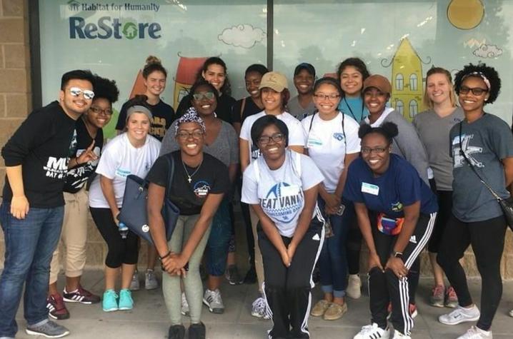
<instances>
[{"instance_id":1,"label":"blue jeans worn with tan moccasin-style shoes","mask_svg":"<svg viewBox=\"0 0 513 339\"><path fill-rule=\"evenodd\" d=\"M317 200L319 208L324 213L324 200L321 196ZM354 221L354 205L351 201L342 198L346 206L342 216L336 214L329 216L334 236L326 238L319 256L319 269L321 271L321 288L324 293L333 293L335 298L343 298L347 288L347 252L346 241L349 226Z\"/></svg>"}]
</instances>

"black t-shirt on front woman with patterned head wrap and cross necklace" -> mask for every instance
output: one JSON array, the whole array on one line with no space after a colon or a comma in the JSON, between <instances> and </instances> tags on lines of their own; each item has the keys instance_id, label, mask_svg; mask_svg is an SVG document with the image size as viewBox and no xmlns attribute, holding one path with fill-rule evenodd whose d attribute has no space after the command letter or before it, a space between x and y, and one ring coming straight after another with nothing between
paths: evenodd
<instances>
[{"instance_id":1,"label":"black t-shirt on front woman with patterned head wrap and cross necklace","mask_svg":"<svg viewBox=\"0 0 513 339\"><path fill-rule=\"evenodd\" d=\"M156 159L149 170L146 179L159 186L166 186L169 176L169 164L166 157L172 156L174 160L174 175L169 189L169 199L180 209L180 214L191 216L201 212L201 206L209 193L227 193L230 187L228 168L224 163L213 156L203 153L203 163L198 171L181 162L180 151L164 154ZM191 183L184 171L184 167L191 176Z\"/></svg>"}]
</instances>

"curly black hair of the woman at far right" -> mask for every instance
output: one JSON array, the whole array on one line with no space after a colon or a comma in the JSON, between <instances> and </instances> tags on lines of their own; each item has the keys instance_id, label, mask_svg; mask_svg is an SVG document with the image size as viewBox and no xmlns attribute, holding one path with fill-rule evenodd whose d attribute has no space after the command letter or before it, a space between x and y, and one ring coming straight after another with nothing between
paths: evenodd
<instances>
[{"instance_id":1,"label":"curly black hair of the woman at far right","mask_svg":"<svg viewBox=\"0 0 513 339\"><path fill-rule=\"evenodd\" d=\"M462 88L462 83L464 79L469 76L474 76L479 79L487 79L490 84L490 88L488 88L488 100L486 103L493 103L497 96L499 96L499 92L501 90L501 79L499 78L499 74L497 71L486 64L468 64L463 67L461 71L459 71L456 76L454 76L454 89L456 93L459 95L459 89Z\"/></svg>"}]
</instances>

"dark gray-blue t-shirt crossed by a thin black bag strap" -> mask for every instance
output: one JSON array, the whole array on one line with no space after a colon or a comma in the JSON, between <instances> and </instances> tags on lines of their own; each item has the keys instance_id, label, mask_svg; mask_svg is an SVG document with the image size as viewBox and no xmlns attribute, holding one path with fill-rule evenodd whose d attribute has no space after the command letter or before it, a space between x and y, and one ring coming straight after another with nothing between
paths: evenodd
<instances>
[{"instance_id":1,"label":"dark gray-blue t-shirt crossed by a thin black bag strap","mask_svg":"<svg viewBox=\"0 0 513 339\"><path fill-rule=\"evenodd\" d=\"M459 123L449 134L454 170L452 213L465 223L502 215L499 203L459 153ZM462 148L475 170L501 197L509 197L501 160L513 156L513 134L501 118L485 113L473 123L462 121Z\"/></svg>"}]
</instances>

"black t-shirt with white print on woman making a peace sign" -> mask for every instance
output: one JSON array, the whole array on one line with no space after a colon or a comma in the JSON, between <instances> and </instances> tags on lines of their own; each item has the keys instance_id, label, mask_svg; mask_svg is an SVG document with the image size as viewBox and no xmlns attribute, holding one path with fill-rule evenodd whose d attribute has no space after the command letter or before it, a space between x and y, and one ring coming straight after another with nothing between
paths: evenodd
<instances>
[{"instance_id":1,"label":"black t-shirt with white print on woman making a peace sign","mask_svg":"<svg viewBox=\"0 0 513 339\"><path fill-rule=\"evenodd\" d=\"M76 148L71 156L71 158L77 158L84 152L91 143L93 142L93 138L89 135L87 131L86 124L84 123L83 118L79 118L76 121L75 125L76 132ZM94 138L94 148L93 151L96 156L100 156L101 148L104 146L104 131L99 128L98 132L96 132L96 138ZM96 170L96 166L98 166L98 161L89 161L80 166L76 166L74 168L70 168L68 170L68 175L66 177L66 185L64 185L64 192L68 193L76 193L80 191L82 187L89 181L89 178L94 175L94 171Z\"/></svg>"}]
</instances>

